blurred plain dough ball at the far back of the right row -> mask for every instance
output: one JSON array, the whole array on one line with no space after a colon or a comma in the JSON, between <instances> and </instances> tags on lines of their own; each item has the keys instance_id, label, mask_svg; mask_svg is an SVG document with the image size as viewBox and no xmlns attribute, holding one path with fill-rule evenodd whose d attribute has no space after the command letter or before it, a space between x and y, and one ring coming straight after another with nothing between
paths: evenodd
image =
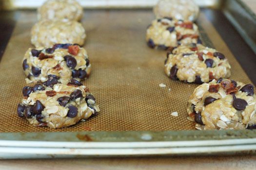
<instances>
[{"instance_id":1,"label":"blurred plain dough ball at the far back of the right row","mask_svg":"<svg viewBox=\"0 0 256 170\"><path fill-rule=\"evenodd\" d=\"M193 0L159 0L154 13L157 18L171 17L195 21L199 14L199 7Z\"/></svg>"}]
</instances>

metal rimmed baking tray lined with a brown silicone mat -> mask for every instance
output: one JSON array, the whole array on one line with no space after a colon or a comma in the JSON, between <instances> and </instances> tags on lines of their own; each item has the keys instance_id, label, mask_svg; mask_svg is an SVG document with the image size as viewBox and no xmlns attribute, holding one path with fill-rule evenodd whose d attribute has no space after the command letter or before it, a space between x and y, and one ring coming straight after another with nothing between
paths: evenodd
<instances>
[{"instance_id":1,"label":"metal rimmed baking tray lined with a brown silicone mat","mask_svg":"<svg viewBox=\"0 0 256 170\"><path fill-rule=\"evenodd\" d=\"M246 26L256 23L255 15L240 0L208 2L201 4L197 20L204 44L228 57L231 78L256 84L256 30ZM147 8L85 10L84 47L93 72L83 83L96 96L101 112L53 130L33 127L16 115L25 85L20 63L32 47L36 10L0 12L0 159L255 154L256 131L197 131L186 119L186 102L197 85L164 75L166 52L145 42L153 19ZM167 87L160 88L160 83ZM171 116L175 111L178 117Z\"/></svg>"}]
</instances>

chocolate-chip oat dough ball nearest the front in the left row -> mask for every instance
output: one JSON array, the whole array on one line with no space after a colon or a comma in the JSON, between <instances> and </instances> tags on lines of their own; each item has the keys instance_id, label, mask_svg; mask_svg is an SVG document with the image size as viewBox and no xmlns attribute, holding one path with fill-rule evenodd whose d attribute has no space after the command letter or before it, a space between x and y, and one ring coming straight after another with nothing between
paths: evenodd
<instances>
[{"instance_id":1,"label":"chocolate-chip oat dough ball nearest the front in the left row","mask_svg":"<svg viewBox=\"0 0 256 170\"><path fill-rule=\"evenodd\" d=\"M68 127L99 112L95 97L77 80L67 85L25 86L22 93L18 115L34 126Z\"/></svg>"}]
</instances>

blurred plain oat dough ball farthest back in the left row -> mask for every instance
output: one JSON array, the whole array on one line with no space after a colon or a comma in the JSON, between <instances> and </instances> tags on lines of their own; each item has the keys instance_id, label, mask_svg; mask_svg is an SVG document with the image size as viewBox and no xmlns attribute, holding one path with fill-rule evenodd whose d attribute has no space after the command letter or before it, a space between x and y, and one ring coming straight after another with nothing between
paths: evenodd
<instances>
[{"instance_id":1,"label":"blurred plain oat dough ball farthest back in the left row","mask_svg":"<svg viewBox=\"0 0 256 170\"><path fill-rule=\"evenodd\" d=\"M38 19L76 20L82 18L83 9L76 0L47 0L38 9Z\"/></svg>"}]
</instances>

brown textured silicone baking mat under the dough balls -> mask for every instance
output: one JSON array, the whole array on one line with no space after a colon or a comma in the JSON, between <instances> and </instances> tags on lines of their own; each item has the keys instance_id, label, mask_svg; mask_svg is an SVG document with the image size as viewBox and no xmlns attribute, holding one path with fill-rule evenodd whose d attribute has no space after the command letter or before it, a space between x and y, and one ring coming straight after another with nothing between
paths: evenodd
<instances>
[{"instance_id":1,"label":"brown textured silicone baking mat under the dough balls","mask_svg":"<svg viewBox=\"0 0 256 170\"><path fill-rule=\"evenodd\" d=\"M36 22L36 12L21 11L17 17L19 21L0 62L0 132L195 129L194 123L186 118L186 105L197 85L165 76L165 52L150 49L145 43L146 27L154 19L149 10L85 11L84 47L92 63L92 74L84 84L95 95L101 111L98 116L69 128L53 130L29 125L17 116L16 107L26 85L21 61L32 46L29 32ZM249 83L248 76L203 13L198 24L217 50L229 59L233 68L231 78ZM160 83L167 87L159 87ZM172 116L172 112L179 116Z\"/></svg>"}]
</instances>

